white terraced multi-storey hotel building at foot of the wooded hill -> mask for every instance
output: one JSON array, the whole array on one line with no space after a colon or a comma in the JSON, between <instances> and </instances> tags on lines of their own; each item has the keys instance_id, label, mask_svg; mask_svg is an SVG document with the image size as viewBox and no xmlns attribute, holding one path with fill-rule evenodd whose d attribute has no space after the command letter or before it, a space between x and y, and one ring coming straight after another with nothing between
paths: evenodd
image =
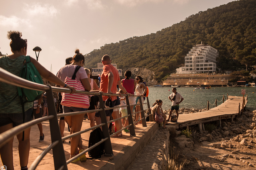
<instances>
[{"instance_id":1,"label":"white terraced multi-storey hotel building at foot of the wooded hill","mask_svg":"<svg viewBox=\"0 0 256 170\"><path fill-rule=\"evenodd\" d=\"M217 49L210 45L198 44L192 47L185 56L185 67L176 69L176 74L216 72Z\"/></svg>"}]
</instances>

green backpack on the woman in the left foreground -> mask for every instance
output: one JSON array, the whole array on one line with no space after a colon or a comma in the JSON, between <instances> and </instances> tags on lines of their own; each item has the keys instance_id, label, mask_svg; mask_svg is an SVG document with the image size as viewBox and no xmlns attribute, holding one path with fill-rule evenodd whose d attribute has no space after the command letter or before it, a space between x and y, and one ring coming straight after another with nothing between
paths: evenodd
<instances>
[{"instance_id":1,"label":"green backpack on the woman in the left foreground","mask_svg":"<svg viewBox=\"0 0 256 170\"><path fill-rule=\"evenodd\" d=\"M20 77L24 78L28 81L32 81L35 83L39 83L39 84L44 84L43 80L41 78L41 75L39 74L39 72L37 71L36 67L34 66L34 64L30 61L30 56L26 56L25 58L26 63L24 63L21 73L20 73ZM20 96L20 98L22 99L22 96L26 97L26 100L22 102L33 102L37 99L39 99L42 95L42 91L39 90L31 90L31 89L25 89L25 88L20 88L18 87L18 94Z\"/></svg>"}]
</instances>

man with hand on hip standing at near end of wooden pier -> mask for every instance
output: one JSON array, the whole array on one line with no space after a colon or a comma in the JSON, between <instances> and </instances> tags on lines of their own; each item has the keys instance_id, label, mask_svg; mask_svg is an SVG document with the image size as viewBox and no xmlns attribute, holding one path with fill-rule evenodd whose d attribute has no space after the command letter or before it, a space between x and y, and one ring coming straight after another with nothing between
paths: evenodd
<instances>
[{"instance_id":1,"label":"man with hand on hip standing at near end of wooden pier","mask_svg":"<svg viewBox=\"0 0 256 170\"><path fill-rule=\"evenodd\" d=\"M178 117L179 117L179 104L184 100L183 97L181 96L180 93L178 93L176 91L176 88L172 88L172 94L168 97L171 102L172 102L172 107L171 107L171 110L169 112L169 118L166 120L167 122L170 122L170 117L172 115L172 111L175 109L176 110L176 114L177 114L177 119L175 120L175 122L177 123L178 121Z\"/></svg>"}]
</instances>

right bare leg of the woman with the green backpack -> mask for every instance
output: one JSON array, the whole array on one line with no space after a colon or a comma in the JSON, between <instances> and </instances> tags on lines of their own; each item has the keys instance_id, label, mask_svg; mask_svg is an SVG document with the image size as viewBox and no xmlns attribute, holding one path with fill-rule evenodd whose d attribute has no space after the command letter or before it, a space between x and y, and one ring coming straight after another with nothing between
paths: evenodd
<instances>
[{"instance_id":1,"label":"right bare leg of the woman with the green backpack","mask_svg":"<svg viewBox=\"0 0 256 170\"><path fill-rule=\"evenodd\" d=\"M28 165L29 149L30 149L30 128L24 130L24 140L22 141L23 133L17 134L17 139L19 141L19 156L20 156L20 166L25 167Z\"/></svg>"}]
</instances>

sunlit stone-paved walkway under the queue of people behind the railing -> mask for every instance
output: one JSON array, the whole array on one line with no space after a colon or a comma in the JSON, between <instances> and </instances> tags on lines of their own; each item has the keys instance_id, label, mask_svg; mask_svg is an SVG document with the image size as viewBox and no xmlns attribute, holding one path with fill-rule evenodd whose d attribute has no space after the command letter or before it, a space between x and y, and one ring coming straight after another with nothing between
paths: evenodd
<instances>
[{"instance_id":1,"label":"sunlit stone-paved walkway under the queue of people behind the railing","mask_svg":"<svg viewBox=\"0 0 256 170\"><path fill-rule=\"evenodd\" d=\"M50 126L49 122L43 122L43 133L45 135L44 142L38 142L39 140L39 130L37 125L31 127L30 132L30 154L29 154L29 162L28 167L32 164L32 162L36 159L36 157L51 143L50 137ZM82 130L89 128L90 124L88 120L84 120L82 124ZM138 155L138 153L143 149L148 140L153 136L154 132L158 129L158 124L156 122L147 122L147 127L142 127L142 124L136 125L135 133L136 137L131 137L130 133L125 133L123 131L122 137L111 137L112 149L114 156L105 157L102 155L99 159L87 159L86 162L76 162L68 164L68 169L70 170L120 170L126 169L133 159ZM67 125L64 130L64 135L68 135ZM82 141L85 148L88 148L90 132L86 132L82 134ZM66 160L69 159L70 156L70 143L68 140L64 141L63 147L66 154ZM88 154L87 154L88 156ZM13 164L15 170L20 170L19 163L19 154L18 154L18 140L16 136L13 141ZM0 167L3 166L2 161L0 162ZM37 166L38 170L45 169L54 169L53 163L53 155L52 150L46 154L43 160ZM7 167L8 170L8 167Z\"/></svg>"}]
</instances>

